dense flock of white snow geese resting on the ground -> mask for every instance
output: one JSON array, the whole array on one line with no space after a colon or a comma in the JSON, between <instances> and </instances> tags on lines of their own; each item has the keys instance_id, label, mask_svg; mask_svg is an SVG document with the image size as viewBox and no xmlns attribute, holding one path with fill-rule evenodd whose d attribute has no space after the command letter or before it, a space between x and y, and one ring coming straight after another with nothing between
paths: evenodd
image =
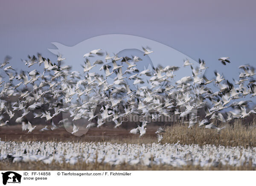
<instances>
[{"instance_id":1,"label":"dense flock of white snow geese resting on the ground","mask_svg":"<svg viewBox=\"0 0 256 186\"><path fill-rule=\"evenodd\" d=\"M256 166L255 147L127 144L109 142L0 142L0 160L10 162L103 163L110 165Z\"/></svg>"}]
</instances>

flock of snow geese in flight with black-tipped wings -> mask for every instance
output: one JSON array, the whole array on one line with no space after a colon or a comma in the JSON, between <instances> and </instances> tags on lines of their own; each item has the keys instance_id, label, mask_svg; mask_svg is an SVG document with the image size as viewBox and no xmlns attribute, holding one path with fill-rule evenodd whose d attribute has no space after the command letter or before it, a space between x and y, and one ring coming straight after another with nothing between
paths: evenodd
<instances>
[{"instance_id":1,"label":"flock of snow geese in flight with black-tipped wings","mask_svg":"<svg viewBox=\"0 0 256 186\"><path fill-rule=\"evenodd\" d=\"M143 47L143 51L144 55L153 52L148 47ZM76 134L79 131L76 125L81 119L89 121L86 128L100 128L111 118L115 128L118 128L122 125L122 118L130 114L152 119L189 115L195 116L189 117L189 128L198 124L199 127L220 132L225 126L216 126L213 119L225 123L256 113L255 109L247 109L251 98L256 96L256 73L250 65L241 65L238 79L233 79L234 82L231 83L217 71L212 79L202 74L208 68L204 60L199 59L198 66L184 60L183 68L191 68L192 74L174 81L175 73L180 67L159 65L140 71L136 68L137 63L142 61L138 56L111 56L106 52L105 61L95 58L103 55L101 49L84 54L82 73L72 71L69 65L63 65L65 58L61 55L53 63L39 53L37 56L28 55L27 60L21 61L30 68L35 65L40 67L30 72L18 72L9 66L11 58L7 56L0 64L7 75L4 77L2 72L0 75L0 126L8 125L14 119L21 124L23 131L28 130L30 133L37 126L33 121L28 121L26 116L33 113L35 118L44 118L46 122L52 123L51 127L42 128L42 132L53 131L70 121L73 125L72 134ZM110 63L107 64L108 61ZM219 61L223 65L230 63L228 57L219 58ZM102 75L93 72L94 68L100 69ZM113 75L116 76L111 78ZM146 77L149 77L149 81L145 81ZM212 87L217 88L217 91L213 91ZM248 97L250 99L246 100ZM236 101L237 99L241 101ZM99 113L96 114L97 107ZM205 117L199 121L198 109L205 110ZM225 109L228 111L224 113ZM69 117L54 123L53 118L61 113L69 114ZM130 133L140 134L142 137L146 133L147 123L138 122L137 128ZM163 138L162 132L163 128L156 132L159 141Z\"/></svg>"}]
</instances>

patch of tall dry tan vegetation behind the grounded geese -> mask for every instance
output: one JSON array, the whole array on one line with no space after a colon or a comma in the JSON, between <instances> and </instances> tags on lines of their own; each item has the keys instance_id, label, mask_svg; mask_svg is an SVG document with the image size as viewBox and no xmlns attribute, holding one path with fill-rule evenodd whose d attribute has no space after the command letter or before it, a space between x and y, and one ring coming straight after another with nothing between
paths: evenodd
<instances>
[{"instance_id":1,"label":"patch of tall dry tan vegetation behind the grounded geese","mask_svg":"<svg viewBox=\"0 0 256 186\"><path fill-rule=\"evenodd\" d=\"M242 125L236 120L233 125L226 125L219 133L216 129L199 128L195 125L188 128L185 124L175 124L166 128L162 143L180 144L214 144L223 146L256 147L256 125ZM223 124L221 127L224 126Z\"/></svg>"}]
</instances>

